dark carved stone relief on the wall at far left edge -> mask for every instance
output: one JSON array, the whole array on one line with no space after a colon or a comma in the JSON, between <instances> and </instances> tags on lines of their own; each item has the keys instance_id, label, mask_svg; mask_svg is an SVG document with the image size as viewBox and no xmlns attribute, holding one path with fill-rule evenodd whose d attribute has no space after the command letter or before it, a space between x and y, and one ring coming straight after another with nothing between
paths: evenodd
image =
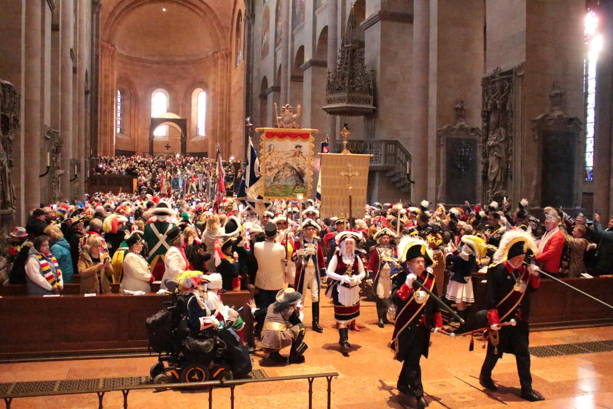
<instances>
[{"instance_id":1,"label":"dark carved stone relief on the wall at far left edge","mask_svg":"<svg viewBox=\"0 0 613 409\"><path fill-rule=\"evenodd\" d=\"M10 82L0 80L0 210L15 210L13 139L20 128L20 95Z\"/></svg>"}]
</instances>

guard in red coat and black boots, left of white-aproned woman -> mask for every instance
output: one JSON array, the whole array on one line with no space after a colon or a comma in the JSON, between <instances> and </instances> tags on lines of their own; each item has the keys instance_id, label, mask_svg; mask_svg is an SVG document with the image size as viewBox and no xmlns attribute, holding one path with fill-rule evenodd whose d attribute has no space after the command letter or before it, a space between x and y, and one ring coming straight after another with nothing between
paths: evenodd
<instances>
[{"instance_id":1,"label":"guard in red coat and black boots, left of white-aproned woman","mask_svg":"<svg viewBox=\"0 0 613 409\"><path fill-rule=\"evenodd\" d=\"M307 290L311 290L313 312L313 331L324 332L319 325L319 292L321 291L321 277L326 277L326 261L324 250L315 233L321 227L315 221L307 219L302 222L302 237L295 242L292 260L296 264L296 277L294 288L302 294L302 303L307 297Z\"/></svg>"}]
</instances>

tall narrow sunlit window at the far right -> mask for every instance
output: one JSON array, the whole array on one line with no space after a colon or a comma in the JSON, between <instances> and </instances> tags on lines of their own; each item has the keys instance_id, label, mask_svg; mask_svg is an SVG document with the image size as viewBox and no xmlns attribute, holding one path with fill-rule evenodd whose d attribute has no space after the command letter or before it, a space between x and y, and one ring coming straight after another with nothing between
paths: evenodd
<instances>
[{"instance_id":1,"label":"tall narrow sunlit window at the far right","mask_svg":"<svg viewBox=\"0 0 613 409\"><path fill-rule=\"evenodd\" d=\"M598 34L598 17L592 10L585 15L585 180L593 180L594 124L596 112L596 61L603 47L603 37Z\"/></svg>"}]
</instances>

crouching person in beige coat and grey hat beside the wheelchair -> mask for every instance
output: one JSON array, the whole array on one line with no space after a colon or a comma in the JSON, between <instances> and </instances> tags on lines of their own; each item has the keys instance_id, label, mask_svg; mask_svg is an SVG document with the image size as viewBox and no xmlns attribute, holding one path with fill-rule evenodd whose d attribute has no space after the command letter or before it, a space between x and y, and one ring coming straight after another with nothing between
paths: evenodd
<instances>
[{"instance_id":1,"label":"crouching person in beige coat and grey hat beside the wheelchair","mask_svg":"<svg viewBox=\"0 0 613 409\"><path fill-rule=\"evenodd\" d=\"M302 364L305 361L302 355L307 350L307 344L303 342L305 326L296 306L301 298L300 292L293 288L282 289L276 294L275 303L268 307L262 327L262 350L269 353L268 357L273 361L287 362L279 351L290 345L289 363Z\"/></svg>"}]
</instances>

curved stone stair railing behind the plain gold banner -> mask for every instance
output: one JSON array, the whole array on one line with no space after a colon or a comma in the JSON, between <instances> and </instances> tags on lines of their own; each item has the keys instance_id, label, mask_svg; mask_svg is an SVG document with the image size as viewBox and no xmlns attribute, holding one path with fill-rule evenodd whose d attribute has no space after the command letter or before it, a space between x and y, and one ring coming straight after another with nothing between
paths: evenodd
<instances>
[{"instance_id":1,"label":"curved stone stair railing behind the plain gold banner","mask_svg":"<svg viewBox=\"0 0 613 409\"><path fill-rule=\"evenodd\" d=\"M373 155L370 158L371 171L384 171L387 178L402 191L408 191L410 186L406 174L411 172L413 155L396 139L349 139L347 148L351 153ZM343 141L334 141L334 152L343 151ZM407 169L409 172L407 172Z\"/></svg>"}]
</instances>

